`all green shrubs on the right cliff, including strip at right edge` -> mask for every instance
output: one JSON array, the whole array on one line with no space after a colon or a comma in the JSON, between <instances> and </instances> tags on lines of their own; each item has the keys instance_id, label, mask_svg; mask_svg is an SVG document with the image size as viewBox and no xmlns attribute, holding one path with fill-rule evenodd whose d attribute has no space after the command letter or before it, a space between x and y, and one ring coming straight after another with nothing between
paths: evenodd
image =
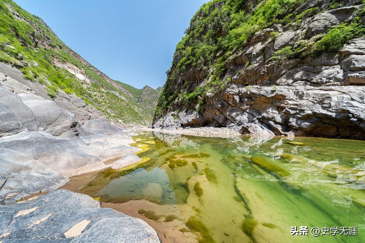
<instances>
[{"instance_id":1,"label":"all green shrubs on the right cliff, including strip at right edge","mask_svg":"<svg viewBox=\"0 0 365 243\"><path fill-rule=\"evenodd\" d=\"M172 66L166 72L166 84L158 99L155 119L166 114L174 103L178 104L179 109L188 106L194 108L199 104L197 111L200 111L207 91L220 91L231 81L230 77L222 79L226 71L224 64L242 51L251 35L273 24L299 26L303 19L320 11L318 7L299 8L305 2L213 0L203 4L192 17L186 35L176 46ZM334 1L329 8L338 7L341 7L341 3ZM296 12L296 9L301 9L301 12ZM277 35L277 32L272 32L272 39ZM303 41L296 49L286 47L279 50L275 56L280 58L276 60L283 56L288 59L305 58L334 52L345 41L362 35L364 28L358 24L358 19L354 19L349 25L342 24L326 35L319 35L315 39L316 43ZM251 64L248 61L246 65L250 67ZM188 80L186 76L189 72L196 74L198 82Z\"/></svg>"}]
</instances>

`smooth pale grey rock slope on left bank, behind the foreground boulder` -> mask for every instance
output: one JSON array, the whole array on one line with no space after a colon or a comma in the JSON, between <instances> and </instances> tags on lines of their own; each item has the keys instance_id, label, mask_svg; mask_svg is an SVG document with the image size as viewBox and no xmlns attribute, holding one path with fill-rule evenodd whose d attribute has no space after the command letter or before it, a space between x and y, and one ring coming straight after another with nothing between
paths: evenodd
<instances>
[{"instance_id":1,"label":"smooth pale grey rock slope on left bank, behind the foreground boulder","mask_svg":"<svg viewBox=\"0 0 365 243\"><path fill-rule=\"evenodd\" d=\"M69 176L130 163L129 135L76 95L54 100L44 85L0 63L0 200L54 190ZM117 164L103 161L126 155ZM134 158L133 161L136 161Z\"/></svg>"}]
</instances>

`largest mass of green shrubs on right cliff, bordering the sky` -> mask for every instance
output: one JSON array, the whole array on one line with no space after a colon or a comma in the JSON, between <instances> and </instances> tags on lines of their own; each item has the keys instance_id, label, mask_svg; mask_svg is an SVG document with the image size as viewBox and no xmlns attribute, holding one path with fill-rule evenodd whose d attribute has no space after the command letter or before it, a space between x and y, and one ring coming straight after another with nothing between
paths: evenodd
<instances>
[{"instance_id":1,"label":"largest mass of green shrubs on right cliff, bordering the sky","mask_svg":"<svg viewBox=\"0 0 365 243\"><path fill-rule=\"evenodd\" d=\"M156 117L167 112L179 99L182 106L199 103L202 107L205 100L197 100L198 96L204 96L208 90L213 93L222 91L231 81L221 78L224 64L233 51L241 50L255 32L283 21L280 18L291 15L304 0L260 1L252 12L242 9L244 1L241 0L226 0L219 8L214 6L218 2L213 0L201 6L191 19L186 35L176 45L172 67L166 72L166 84L157 101ZM277 33L273 32L273 39L276 36ZM189 69L199 73L198 79L206 80L205 88L196 90L189 82L185 82L181 92L172 88L172 83Z\"/></svg>"}]
</instances>

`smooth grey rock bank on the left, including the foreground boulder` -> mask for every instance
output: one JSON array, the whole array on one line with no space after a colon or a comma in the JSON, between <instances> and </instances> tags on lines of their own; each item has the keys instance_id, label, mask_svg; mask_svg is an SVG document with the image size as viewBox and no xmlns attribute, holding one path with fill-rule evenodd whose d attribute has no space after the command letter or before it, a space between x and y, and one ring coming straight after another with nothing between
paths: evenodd
<instances>
[{"instance_id":1,"label":"smooth grey rock bank on the left, including the foreground boulder","mask_svg":"<svg viewBox=\"0 0 365 243\"><path fill-rule=\"evenodd\" d=\"M130 134L101 112L65 92L51 99L46 85L0 63L0 121L0 243L160 242L140 219L101 209L86 195L53 191L70 176L140 160Z\"/></svg>"}]
</instances>

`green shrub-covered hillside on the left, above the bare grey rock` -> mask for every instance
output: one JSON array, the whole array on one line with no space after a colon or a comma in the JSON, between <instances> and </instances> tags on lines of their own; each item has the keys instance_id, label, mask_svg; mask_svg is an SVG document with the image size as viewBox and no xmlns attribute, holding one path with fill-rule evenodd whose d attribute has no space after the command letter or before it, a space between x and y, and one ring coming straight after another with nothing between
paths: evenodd
<instances>
[{"instance_id":1,"label":"green shrub-covered hillside on the left, above the bare grey rock","mask_svg":"<svg viewBox=\"0 0 365 243\"><path fill-rule=\"evenodd\" d=\"M0 1L0 61L19 68L24 78L46 85L51 98L62 90L75 93L110 120L137 124L151 121L147 108L67 47L41 18L10 0ZM56 62L76 66L90 83L82 82Z\"/></svg>"}]
</instances>

